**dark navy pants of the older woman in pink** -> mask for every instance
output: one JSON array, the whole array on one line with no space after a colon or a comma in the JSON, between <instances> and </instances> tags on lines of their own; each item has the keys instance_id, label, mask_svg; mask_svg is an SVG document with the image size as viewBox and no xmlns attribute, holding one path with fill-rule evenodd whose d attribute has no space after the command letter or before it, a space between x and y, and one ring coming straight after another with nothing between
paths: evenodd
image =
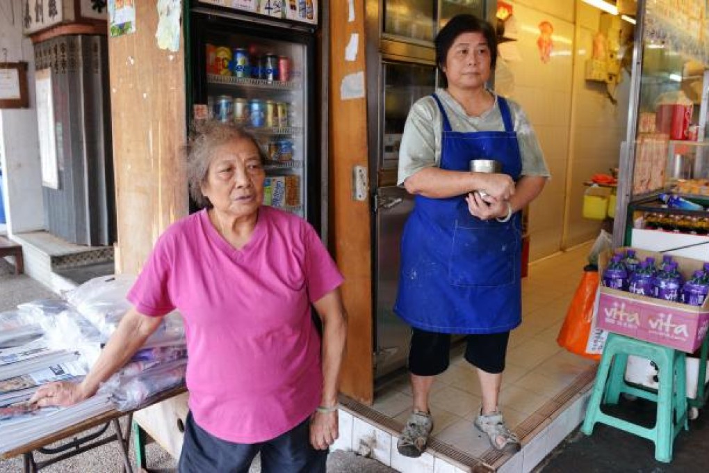
<instances>
[{"instance_id":1,"label":"dark navy pants of the older woman in pink","mask_svg":"<svg viewBox=\"0 0 709 473\"><path fill-rule=\"evenodd\" d=\"M262 443L233 443L216 438L187 415L179 473L247 473L261 452L262 473L325 473L327 450L310 443L310 419Z\"/></svg>"}]
</instances>

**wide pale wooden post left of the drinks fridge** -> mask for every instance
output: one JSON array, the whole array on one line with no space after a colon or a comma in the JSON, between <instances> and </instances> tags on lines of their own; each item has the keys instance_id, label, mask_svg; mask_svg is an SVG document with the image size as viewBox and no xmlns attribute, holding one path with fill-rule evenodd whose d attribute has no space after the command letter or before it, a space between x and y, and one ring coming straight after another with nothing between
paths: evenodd
<instances>
[{"instance_id":1,"label":"wide pale wooden post left of the drinks fridge","mask_svg":"<svg viewBox=\"0 0 709 473\"><path fill-rule=\"evenodd\" d=\"M136 1L135 33L108 38L118 244L116 271L137 274L160 233L188 213L184 38L157 47L155 2Z\"/></svg>"}]
</instances>

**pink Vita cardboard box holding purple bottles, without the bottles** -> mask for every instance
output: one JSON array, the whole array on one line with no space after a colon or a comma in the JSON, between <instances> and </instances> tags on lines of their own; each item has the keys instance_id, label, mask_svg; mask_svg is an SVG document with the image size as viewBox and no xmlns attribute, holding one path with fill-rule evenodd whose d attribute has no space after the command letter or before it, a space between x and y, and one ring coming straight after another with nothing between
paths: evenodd
<instances>
[{"instance_id":1,"label":"pink Vita cardboard box holding purple bottles, without the bottles","mask_svg":"<svg viewBox=\"0 0 709 473\"><path fill-rule=\"evenodd\" d=\"M626 249L618 248L616 251L625 252ZM635 251L641 261L648 256L654 257L656 264L662 260L662 253L637 248ZM601 274L612 255L612 252L606 252L598 257L598 271ZM685 279L703 265L703 261L691 258L672 258L679 263ZM696 307L601 286L596 326L691 353L700 347L709 329L709 298L703 306Z\"/></svg>"}]
</instances>

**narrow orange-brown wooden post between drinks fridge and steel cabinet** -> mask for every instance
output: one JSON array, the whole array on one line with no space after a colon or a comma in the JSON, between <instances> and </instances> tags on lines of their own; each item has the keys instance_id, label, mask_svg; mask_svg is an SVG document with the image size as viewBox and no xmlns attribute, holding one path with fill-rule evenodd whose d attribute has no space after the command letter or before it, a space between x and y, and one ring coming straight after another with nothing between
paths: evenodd
<instances>
[{"instance_id":1,"label":"narrow orange-brown wooden post between drinks fridge and steel cabinet","mask_svg":"<svg viewBox=\"0 0 709 473\"><path fill-rule=\"evenodd\" d=\"M364 201L352 197L355 166L368 169L367 100L345 98L340 87L345 77L365 71L364 0L354 0L354 20L347 1L332 1L330 8L330 240L335 259L345 274L342 296L349 313L347 354L341 391L364 404L374 399L372 365L372 242L369 193ZM345 60L345 47L359 35L357 55ZM362 84L364 91L364 84Z\"/></svg>"}]
</instances>

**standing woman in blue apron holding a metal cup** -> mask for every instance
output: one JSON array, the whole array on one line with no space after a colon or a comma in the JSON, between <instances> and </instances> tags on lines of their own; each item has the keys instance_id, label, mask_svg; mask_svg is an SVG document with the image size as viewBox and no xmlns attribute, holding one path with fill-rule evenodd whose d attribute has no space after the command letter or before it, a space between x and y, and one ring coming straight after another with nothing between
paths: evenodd
<instances>
[{"instance_id":1,"label":"standing woman in blue apron holding a metal cup","mask_svg":"<svg viewBox=\"0 0 709 473\"><path fill-rule=\"evenodd\" d=\"M518 104L486 89L497 59L490 23L452 18L435 40L446 89L411 108L401 140L399 184L415 195L401 240L394 311L412 327L408 369L413 413L398 451L418 457L433 428L429 393L447 369L450 335L467 334L482 406L475 426L498 450L518 438L498 408L510 330L521 322L520 210L542 191L549 171ZM471 172L472 160L501 172Z\"/></svg>"}]
</instances>

